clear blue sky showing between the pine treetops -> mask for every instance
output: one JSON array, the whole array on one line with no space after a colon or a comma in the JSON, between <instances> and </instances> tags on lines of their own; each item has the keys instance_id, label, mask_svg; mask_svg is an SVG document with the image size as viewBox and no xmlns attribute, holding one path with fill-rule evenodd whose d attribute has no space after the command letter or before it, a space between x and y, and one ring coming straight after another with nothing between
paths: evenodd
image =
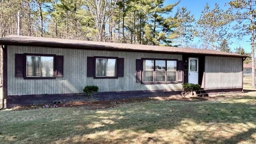
<instances>
[{"instance_id":1,"label":"clear blue sky showing between the pine treetops","mask_svg":"<svg viewBox=\"0 0 256 144\"><path fill-rule=\"evenodd\" d=\"M177 1L178 0L165 0L164 6L168 4L173 4ZM210 9L214 8L215 3L217 3L220 8L226 10L228 8L229 1L230 0L181 0L176 8L186 7L187 10L189 10L190 13L194 15L194 18L197 21L200 18L200 15L204 10L204 6L206 5L206 3L208 3ZM225 4L227 4L227 6L225 6ZM173 11L174 13L176 12L176 8ZM242 40L232 38L231 41L232 44L230 44L229 47L232 49L232 51L234 51L235 48L242 46L246 50L246 52L251 52L249 36L245 36ZM192 44L199 44L199 38L194 38Z\"/></svg>"}]
</instances>

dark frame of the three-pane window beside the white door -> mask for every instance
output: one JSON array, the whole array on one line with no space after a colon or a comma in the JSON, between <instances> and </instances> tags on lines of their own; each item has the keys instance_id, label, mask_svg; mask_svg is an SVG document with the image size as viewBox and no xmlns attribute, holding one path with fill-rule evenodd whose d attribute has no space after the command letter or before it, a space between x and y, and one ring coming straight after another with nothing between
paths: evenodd
<instances>
[{"instance_id":1,"label":"dark frame of the three-pane window beside the white door","mask_svg":"<svg viewBox=\"0 0 256 144\"><path fill-rule=\"evenodd\" d=\"M177 78L177 72L178 72L178 59L166 59L166 58L141 58L142 60L142 72L141 72L141 84L178 84L181 82L178 82L178 78ZM144 82L143 81L143 60L154 60L154 71L153 71L153 82ZM156 82L156 60L165 60L165 73L164 73L164 77L165 77L165 81L164 82ZM176 61L176 81L167 81L167 61ZM159 71L161 72L161 71Z\"/></svg>"}]
</instances>

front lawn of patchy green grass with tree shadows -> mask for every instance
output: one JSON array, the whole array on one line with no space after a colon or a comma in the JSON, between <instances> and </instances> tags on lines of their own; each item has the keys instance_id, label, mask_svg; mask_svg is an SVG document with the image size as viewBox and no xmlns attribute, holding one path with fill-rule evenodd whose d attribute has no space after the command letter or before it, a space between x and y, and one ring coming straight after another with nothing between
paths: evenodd
<instances>
[{"instance_id":1,"label":"front lawn of patchy green grass with tree shadows","mask_svg":"<svg viewBox=\"0 0 256 144\"><path fill-rule=\"evenodd\" d=\"M256 143L256 92L114 108L1 110L0 143Z\"/></svg>"}]
</instances>

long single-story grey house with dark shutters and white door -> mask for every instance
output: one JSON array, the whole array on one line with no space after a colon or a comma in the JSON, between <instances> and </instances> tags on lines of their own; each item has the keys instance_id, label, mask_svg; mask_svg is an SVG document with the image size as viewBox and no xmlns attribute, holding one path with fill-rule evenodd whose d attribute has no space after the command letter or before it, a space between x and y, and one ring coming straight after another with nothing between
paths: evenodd
<instances>
[{"instance_id":1,"label":"long single-story grey house with dark shutters and white door","mask_svg":"<svg viewBox=\"0 0 256 144\"><path fill-rule=\"evenodd\" d=\"M4 52L4 98L16 105L180 94L182 83L208 94L242 92L246 56L214 50L10 35Z\"/></svg>"}]
</instances>

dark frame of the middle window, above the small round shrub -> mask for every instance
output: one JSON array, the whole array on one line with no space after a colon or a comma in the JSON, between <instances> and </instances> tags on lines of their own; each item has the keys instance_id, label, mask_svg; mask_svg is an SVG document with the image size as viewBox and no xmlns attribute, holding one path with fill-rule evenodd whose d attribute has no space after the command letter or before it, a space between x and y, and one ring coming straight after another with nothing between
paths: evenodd
<instances>
[{"instance_id":1,"label":"dark frame of the middle window, above the small round shrub","mask_svg":"<svg viewBox=\"0 0 256 144\"><path fill-rule=\"evenodd\" d=\"M106 67L107 67L107 59L116 59L116 76L96 76L96 59L106 59ZM110 56L94 56L94 79L115 79L118 78L118 57L110 57ZM107 70L107 69L106 69Z\"/></svg>"}]
</instances>

